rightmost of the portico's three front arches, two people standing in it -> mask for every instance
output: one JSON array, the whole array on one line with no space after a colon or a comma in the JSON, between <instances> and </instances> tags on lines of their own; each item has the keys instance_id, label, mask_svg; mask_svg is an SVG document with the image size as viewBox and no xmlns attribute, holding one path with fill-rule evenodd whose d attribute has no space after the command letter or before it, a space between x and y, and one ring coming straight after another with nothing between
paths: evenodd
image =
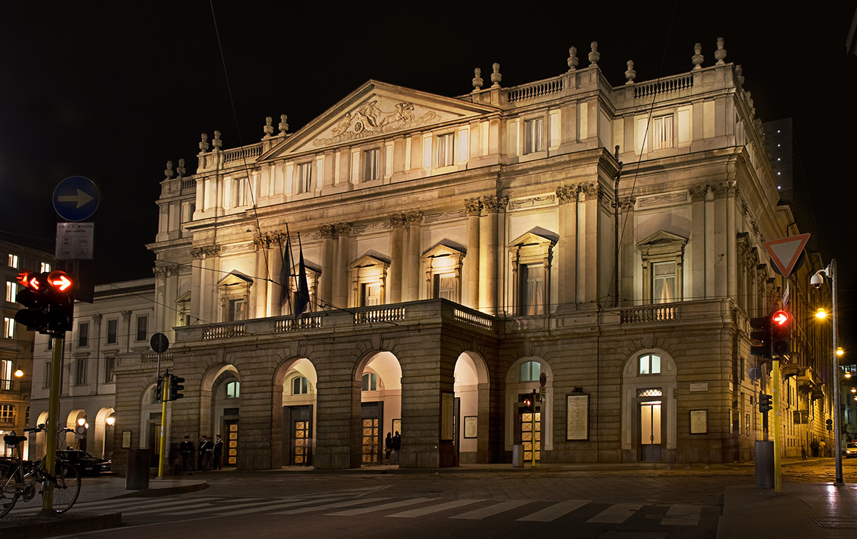
<instances>
[{"instance_id":1,"label":"rightmost of the portico's three front arches, two people standing in it","mask_svg":"<svg viewBox=\"0 0 857 539\"><path fill-rule=\"evenodd\" d=\"M361 464L384 464L386 433L402 433L402 367L392 352L377 352L357 368L361 383ZM391 455L390 464L398 464Z\"/></svg>"}]
</instances>

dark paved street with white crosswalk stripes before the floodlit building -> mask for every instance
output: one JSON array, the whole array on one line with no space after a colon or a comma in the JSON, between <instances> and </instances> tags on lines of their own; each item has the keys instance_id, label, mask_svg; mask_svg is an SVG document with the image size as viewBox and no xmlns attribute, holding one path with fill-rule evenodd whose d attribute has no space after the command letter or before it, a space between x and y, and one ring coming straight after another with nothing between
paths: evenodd
<instances>
[{"instance_id":1,"label":"dark paved street with white crosswalk stripes before the floodlit building","mask_svg":"<svg viewBox=\"0 0 857 539\"><path fill-rule=\"evenodd\" d=\"M713 539L727 488L770 492L753 488L754 468L746 465L570 468L223 470L187 476L204 480L207 488L147 498L112 497L125 494L117 488L121 480L97 478L84 484L72 512L121 512L125 527L71 536L291 537L313 530L314 535L323 536L377 537L383 532L409 539ZM857 474L857 463L846 461L845 472L848 482ZM783 468L786 487L816 486L832 475L832 459L788 461ZM111 499L105 499L108 495ZM835 512L817 509L818 518L836 524ZM32 512L32 507L16 507L10 516Z\"/></svg>"}]
</instances>

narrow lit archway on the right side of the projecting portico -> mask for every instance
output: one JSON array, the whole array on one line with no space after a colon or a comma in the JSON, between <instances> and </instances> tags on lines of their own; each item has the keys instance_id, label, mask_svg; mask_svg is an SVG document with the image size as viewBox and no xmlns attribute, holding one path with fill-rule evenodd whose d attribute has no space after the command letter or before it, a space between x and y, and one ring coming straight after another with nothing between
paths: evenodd
<instances>
[{"instance_id":1,"label":"narrow lit archway on the right side of the projecting portico","mask_svg":"<svg viewBox=\"0 0 857 539\"><path fill-rule=\"evenodd\" d=\"M488 367L465 351L455 362L453 430L459 463L488 462Z\"/></svg>"}]
</instances>

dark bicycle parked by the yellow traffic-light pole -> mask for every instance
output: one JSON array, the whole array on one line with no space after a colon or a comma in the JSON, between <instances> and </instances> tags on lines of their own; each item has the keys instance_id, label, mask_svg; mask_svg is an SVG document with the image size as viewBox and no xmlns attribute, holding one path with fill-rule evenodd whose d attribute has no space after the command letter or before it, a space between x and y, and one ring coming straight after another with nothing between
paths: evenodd
<instances>
[{"instance_id":1,"label":"dark bicycle parked by the yellow traffic-light pole","mask_svg":"<svg viewBox=\"0 0 857 539\"><path fill-rule=\"evenodd\" d=\"M39 433L43 430L45 425L39 425L34 428L25 428L24 432ZM67 432L74 431L70 428L62 428L57 435ZM39 458L35 462L21 458L21 448L18 446L21 442L27 441L26 436L7 434L3 436L3 441L7 446L12 447L13 455L17 450L18 457L13 456L0 461L0 518L6 516L19 499L25 502L33 500L37 485L44 497L45 482L51 482L53 485L53 511L66 512L75 505L77 496L81 494L81 475L74 466L57 459L55 475L51 476L45 469L45 458Z\"/></svg>"}]
</instances>

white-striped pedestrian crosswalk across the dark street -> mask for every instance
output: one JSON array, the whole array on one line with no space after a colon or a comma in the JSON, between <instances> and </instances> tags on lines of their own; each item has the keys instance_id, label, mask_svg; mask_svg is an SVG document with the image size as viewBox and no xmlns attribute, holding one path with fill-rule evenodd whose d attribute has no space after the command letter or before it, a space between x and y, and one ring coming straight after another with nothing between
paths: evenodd
<instances>
[{"instance_id":1,"label":"white-striped pedestrian crosswalk across the dark street","mask_svg":"<svg viewBox=\"0 0 857 539\"><path fill-rule=\"evenodd\" d=\"M289 498L227 498L223 496L178 495L168 499L127 498L82 502L73 511L121 512L123 522L133 524L152 518L183 520L215 518L251 513L299 515L319 513L330 518L373 515L386 518L434 516L450 519L483 520L509 518L518 522L548 523L560 518L576 518L587 524L625 524L633 518L662 526L698 526L704 506L656 505L638 503L602 503L592 500L487 500L414 496L397 498L392 494L370 493L316 494ZM15 509L15 512L26 511Z\"/></svg>"}]
</instances>

